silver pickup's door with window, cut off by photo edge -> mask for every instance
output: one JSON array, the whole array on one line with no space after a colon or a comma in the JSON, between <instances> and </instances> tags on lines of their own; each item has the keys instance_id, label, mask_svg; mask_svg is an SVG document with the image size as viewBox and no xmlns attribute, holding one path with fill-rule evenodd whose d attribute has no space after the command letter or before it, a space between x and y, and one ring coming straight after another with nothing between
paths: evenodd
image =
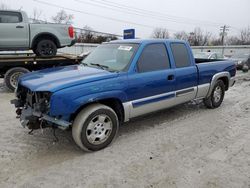
<instances>
[{"instance_id":1,"label":"silver pickup's door with window, cut off by photo edge","mask_svg":"<svg viewBox=\"0 0 250 188\"><path fill-rule=\"evenodd\" d=\"M28 47L28 23L23 22L22 14L20 12L0 11L0 49Z\"/></svg>"}]
</instances>

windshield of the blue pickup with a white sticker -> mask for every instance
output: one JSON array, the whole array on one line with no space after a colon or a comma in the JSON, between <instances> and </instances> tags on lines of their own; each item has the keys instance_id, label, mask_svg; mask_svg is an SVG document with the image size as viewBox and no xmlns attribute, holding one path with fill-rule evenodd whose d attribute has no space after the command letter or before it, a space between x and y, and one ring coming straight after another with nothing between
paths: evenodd
<instances>
[{"instance_id":1,"label":"windshield of the blue pickup with a white sticker","mask_svg":"<svg viewBox=\"0 0 250 188\"><path fill-rule=\"evenodd\" d=\"M82 61L82 64L100 67L109 71L123 71L128 67L138 46L138 44L126 43L102 44L89 54Z\"/></svg>"}]
</instances>

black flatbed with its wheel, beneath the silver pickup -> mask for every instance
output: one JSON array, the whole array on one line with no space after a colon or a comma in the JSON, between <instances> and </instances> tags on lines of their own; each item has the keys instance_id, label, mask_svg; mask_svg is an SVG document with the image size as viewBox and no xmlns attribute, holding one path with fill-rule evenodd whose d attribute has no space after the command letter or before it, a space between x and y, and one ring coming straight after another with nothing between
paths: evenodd
<instances>
[{"instance_id":1,"label":"black flatbed with its wheel, beneath the silver pickup","mask_svg":"<svg viewBox=\"0 0 250 188\"><path fill-rule=\"evenodd\" d=\"M25 73L66 65L77 65L82 56L56 55L51 58L41 58L33 54L1 54L0 78L4 78L5 86L14 91L19 77Z\"/></svg>"}]
</instances>

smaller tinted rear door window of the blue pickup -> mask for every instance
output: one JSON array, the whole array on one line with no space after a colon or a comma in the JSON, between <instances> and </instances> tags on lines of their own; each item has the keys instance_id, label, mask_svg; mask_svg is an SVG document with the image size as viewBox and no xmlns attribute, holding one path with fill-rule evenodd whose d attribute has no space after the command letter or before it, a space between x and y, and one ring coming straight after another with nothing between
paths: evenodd
<instances>
[{"instance_id":1,"label":"smaller tinted rear door window of the blue pickup","mask_svg":"<svg viewBox=\"0 0 250 188\"><path fill-rule=\"evenodd\" d=\"M190 66L190 58L187 48L181 43L172 43L171 50L174 55L174 61L176 68L188 67Z\"/></svg>"}]
</instances>

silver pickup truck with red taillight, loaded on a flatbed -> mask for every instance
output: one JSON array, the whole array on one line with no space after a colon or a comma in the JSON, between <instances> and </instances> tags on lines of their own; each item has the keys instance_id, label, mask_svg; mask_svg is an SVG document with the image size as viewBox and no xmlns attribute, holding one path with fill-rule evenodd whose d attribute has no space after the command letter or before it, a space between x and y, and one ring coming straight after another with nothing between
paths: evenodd
<instances>
[{"instance_id":1,"label":"silver pickup truck with red taillight, loaded on a flatbed","mask_svg":"<svg viewBox=\"0 0 250 188\"><path fill-rule=\"evenodd\" d=\"M23 11L0 11L0 51L32 49L38 56L55 56L72 46L74 28L67 24L32 24Z\"/></svg>"}]
</instances>

